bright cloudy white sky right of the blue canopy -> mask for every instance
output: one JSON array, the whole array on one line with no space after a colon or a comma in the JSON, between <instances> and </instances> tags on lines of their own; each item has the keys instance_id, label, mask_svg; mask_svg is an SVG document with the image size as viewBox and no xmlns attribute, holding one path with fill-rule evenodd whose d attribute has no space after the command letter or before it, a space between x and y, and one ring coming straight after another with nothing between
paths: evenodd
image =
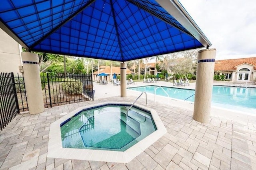
<instances>
[{"instance_id":1,"label":"bright cloudy white sky right of the blue canopy","mask_svg":"<svg viewBox=\"0 0 256 170\"><path fill-rule=\"evenodd\" d=\"M255 0L179 0L216 48L216 60L256 57Z\"/></svg>"}]
</instances>

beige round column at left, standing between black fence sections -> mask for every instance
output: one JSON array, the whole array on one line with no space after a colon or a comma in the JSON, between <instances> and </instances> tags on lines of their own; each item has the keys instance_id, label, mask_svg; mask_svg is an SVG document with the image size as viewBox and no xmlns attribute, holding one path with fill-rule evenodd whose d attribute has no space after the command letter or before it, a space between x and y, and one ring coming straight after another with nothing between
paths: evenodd
<instances>
[{"instance_id":1,"label":"beige round column at left, standing between black fence sections","mask_svg":"<svg viewBox=\"0 0 256 170\"><path fill-rule=\"evenodd\" d=\"M27 100L30 114L44 111L44 100L36 53L22 52L23 76L26 85Z\"/></svg>"}]
</instances>

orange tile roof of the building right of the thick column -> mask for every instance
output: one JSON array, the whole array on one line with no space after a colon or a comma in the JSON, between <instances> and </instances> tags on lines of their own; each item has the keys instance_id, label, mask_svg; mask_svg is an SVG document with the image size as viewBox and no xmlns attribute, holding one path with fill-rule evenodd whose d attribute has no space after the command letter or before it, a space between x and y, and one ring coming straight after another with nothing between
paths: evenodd
<instances>
[{"instance_id":1,"label":"orange tile roof of the building right of the thick column","mask_svg":"<svg viewBox=\"0 0 256 170\"><path fill-rule=\"evenodd\" d=\"M236 71L236 66L243 63L254 65L256 70L256 57L216 60L214 71Z\"/></svg>"}]
</instances>

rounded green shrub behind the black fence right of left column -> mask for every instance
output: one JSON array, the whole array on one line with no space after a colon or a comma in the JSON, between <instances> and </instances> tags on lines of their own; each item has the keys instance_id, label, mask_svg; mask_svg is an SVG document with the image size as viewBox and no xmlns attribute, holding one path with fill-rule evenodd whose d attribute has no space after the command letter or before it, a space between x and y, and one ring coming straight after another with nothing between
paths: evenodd
<instances>
[{"instance_id":1,"label":"rounded green shrub behind the black fence right of left column","mask_svg":"<svg viewBox=\"0 0 256 170\"><path fill-rule=\"evenodd\" d=\"M82 83L75 81L75 79L66 78L63 84L63 91L68 94L81 94Z\"/></svg>"}]
</instances>

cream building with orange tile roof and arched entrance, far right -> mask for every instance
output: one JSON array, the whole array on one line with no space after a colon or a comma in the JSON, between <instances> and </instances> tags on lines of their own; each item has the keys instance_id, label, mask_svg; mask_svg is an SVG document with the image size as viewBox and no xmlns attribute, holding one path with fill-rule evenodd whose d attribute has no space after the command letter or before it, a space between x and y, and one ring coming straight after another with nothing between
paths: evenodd
<instances>
[{"instance_id":1,"label":"cream building with orange tile roof and arched entrance, far right","mask_svg":"<svg viewBox=\"0 0 256 170\"><path fill-rule=\"evenodd\" d=\"M216 60L214 75L219 74L231 81L256 81L256 57Z\"/></svg>"}]
</instances>

